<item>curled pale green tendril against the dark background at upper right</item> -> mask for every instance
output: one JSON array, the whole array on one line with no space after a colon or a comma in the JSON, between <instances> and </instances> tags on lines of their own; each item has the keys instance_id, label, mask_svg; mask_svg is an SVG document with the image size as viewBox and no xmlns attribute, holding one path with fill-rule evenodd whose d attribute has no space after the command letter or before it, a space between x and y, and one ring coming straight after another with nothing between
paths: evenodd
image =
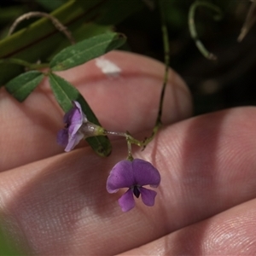
<instances>
[{"instance_id":1,"label":"curled pale green tendril against the dark background at upper right","mask_svg":"<svg viewBox=\"0 0 256 256\"><path fill-rule=\"evenodd\" d=\"M197 32L196 32L196 28L195 28L195 10L199 6L204 6L204 7L207 7L209 9L212 9L213 11L215 11L218 14L214 17L215 20L220 20L220 18L222 16L222 11L221 11L221 9L218 8L218 6L215 6L212 3L207 3L207 2L203 2L203 1L197 1L195 3L192 3L192 5L190 6L190 9L189 9L189 32L190 32L190 36L191 36L191 38L194 39L195 45L200 50L201 54L204 55L207 59L215 61L215 60L217 60L217 56L212 54L211 52L209 52L205 48L205 46L201 43L201 40L198 38L198 35L197 35Z\"/></svg>"}]
</instances>

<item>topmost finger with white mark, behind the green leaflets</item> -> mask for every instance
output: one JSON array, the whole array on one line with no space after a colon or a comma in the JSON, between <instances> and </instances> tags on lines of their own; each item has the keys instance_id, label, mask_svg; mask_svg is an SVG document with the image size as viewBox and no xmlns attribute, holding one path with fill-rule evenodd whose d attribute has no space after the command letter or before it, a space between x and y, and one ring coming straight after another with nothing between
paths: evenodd
<instances>
[{"instance_id":1,"label":"topmost finger with white mark, behind the green leaflets","mask_svg":"<svg viewBox=\"0 0 256 256\"><path fill-rule=\"evenodd\" d=\"M152 129L159 105L163 64L120 51L100 60L105 66L101 61L89 61L59 74L80 90L107 129L131 133ZM118 68L119 72L115 76L109 74L109 66L110 71ZM164 106L166 123L188 117L192 108L183 80L172 70L169 78ZM63 151L56 144L63 112L52 96L47 79L23 103L15 101L4 89L0 96L0 171Z\"/></svg>"}]
</instances>

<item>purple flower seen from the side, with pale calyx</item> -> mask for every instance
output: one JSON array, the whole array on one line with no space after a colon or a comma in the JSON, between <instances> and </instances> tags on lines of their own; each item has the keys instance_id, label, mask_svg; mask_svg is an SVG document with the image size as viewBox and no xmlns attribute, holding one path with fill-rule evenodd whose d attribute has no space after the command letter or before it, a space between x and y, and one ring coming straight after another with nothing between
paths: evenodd
<instances>
[{"instance_id":1,"label":"purple flower seen from the side, with pale calyx","mask_svg":"<svg viewBox=\"0 0 256 256\"><path fill-rule=\"evenodd\" d=\"M101 126L88 121L79 102L73 101L73 108L65 113L63 121L65 128L58 132L57 143L65 147L66 152L72 150L82 138L104 135Z\"/></svg>"}]
</instances>

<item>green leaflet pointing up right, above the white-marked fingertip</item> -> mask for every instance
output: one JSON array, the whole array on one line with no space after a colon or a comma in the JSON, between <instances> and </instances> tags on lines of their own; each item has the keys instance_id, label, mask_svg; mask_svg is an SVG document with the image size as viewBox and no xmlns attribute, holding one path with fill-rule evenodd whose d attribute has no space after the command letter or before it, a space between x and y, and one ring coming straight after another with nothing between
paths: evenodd
<instances>
[{"instance_id":1,"label":"green leaflet pointing up right, above the white-marked fingertip","mask_svg":"<svg viewBox=\"0 0 256 256\"><path fill-rule=\"evenodd\" d=\"M90 61L125 43L123 34L107 32L62 49L49 62L53 71L66 70Z\"/></svg>"}]
</instances>

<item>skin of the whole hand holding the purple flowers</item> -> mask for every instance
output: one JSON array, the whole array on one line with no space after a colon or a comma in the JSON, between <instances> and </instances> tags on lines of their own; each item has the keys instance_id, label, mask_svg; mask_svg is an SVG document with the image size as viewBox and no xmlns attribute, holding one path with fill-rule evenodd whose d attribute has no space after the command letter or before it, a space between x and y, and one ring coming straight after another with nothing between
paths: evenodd
<instances>
[{"instance_id":1,"label":"skin of the whole hand holding the purple flowers","mask_svg":"<svg viewBox=\"0 0 256 256\"><path fill-rule=\"evenodd\" d=\"M150 134L164 67L140 55L112 52L119 77L95 61L59 73L74 84L102 125ZM42 108L44 106L44 108ZM99 158L86 143L70 153L55 143L61 108L45 80L19 103L0 91L2 227L36 255L255 255L256 108L190 118L189 90L170 70L163 121L144 151L161 174L154 207L139 198L130 212L109 195L111 168L127 154L124 138Z\"/></svg>"}]
</instances>

